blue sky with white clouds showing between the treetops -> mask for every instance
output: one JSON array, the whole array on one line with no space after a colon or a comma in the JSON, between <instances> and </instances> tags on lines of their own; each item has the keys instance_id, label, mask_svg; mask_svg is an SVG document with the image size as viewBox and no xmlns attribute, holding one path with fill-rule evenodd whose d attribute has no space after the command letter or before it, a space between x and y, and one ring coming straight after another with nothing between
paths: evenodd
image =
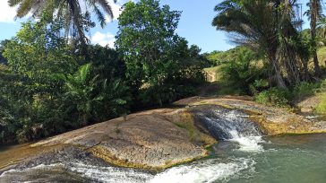
<instances>
[{"instance_id":1,"label":"blue sky with white clouds showing between the treetops","mask_svg":"<svg viewBox=\"0 0 326 183\"><path fill-rule=\"evenodd\" d=\"M119 7L127 0L120 0L114 6L116 17L119 14ZM304 11L307 0L301 0ZM161 4L169 4L172 10L182 11L181 20L177 33L187 39L190 44L196 44L202 48L202 52L213 50L227 50L235 47L228 41L227 34L217 31L211 26L212 19L216 15L214 6L220 0L161 0ZM13 21L14 9L9 8L6 0L0 0L0 40L10 39L20 30L21 22L26 19ZM99 24L99 23L98 23ZM307 27L308 23L304 27ZM100 45L114 44L114 37L117 31L117 21L108 22L104 29L99 26L90 31L91 41Z\"/></svg>"}]
</instances>

